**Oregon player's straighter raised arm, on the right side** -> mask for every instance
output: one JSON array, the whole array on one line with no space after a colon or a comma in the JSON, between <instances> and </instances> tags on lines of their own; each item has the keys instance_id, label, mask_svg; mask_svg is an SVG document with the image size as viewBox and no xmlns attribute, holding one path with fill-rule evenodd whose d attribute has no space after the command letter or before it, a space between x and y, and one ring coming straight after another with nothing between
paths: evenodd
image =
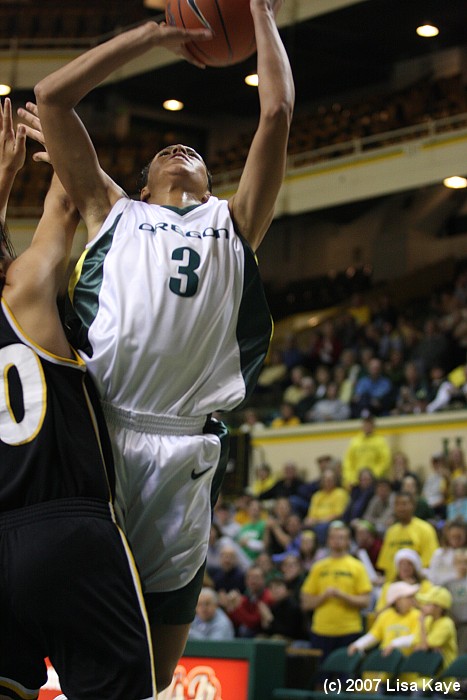
<instances>
[{"instance_id":1,"label":"Oregon player's straighter raised arm, on the right side","mask_svg":"<svg viewBox=\"0 0 467 700\"><path fill-rule=\"evenodd\" d=\"M274 0L250 2L258 51L260 117L230 210L254 250L272 221L284 179L295 100L292 70L275 22L279 5Z\"/></svg>"}]
</instances>

